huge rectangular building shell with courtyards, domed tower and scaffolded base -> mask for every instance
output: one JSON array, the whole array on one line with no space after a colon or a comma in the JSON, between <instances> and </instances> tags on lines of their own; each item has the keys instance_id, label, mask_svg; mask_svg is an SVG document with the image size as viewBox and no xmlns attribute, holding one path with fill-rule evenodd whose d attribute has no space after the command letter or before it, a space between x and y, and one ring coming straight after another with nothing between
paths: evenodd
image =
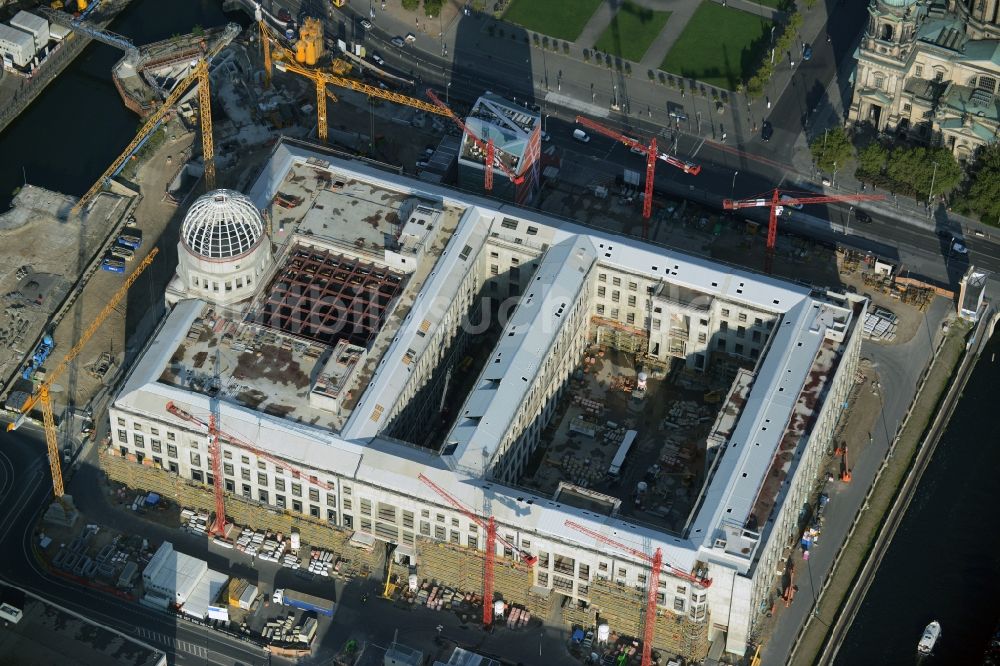
<instances>
[{"instance_id":1,"label":"huge rectangular building shell with courtyards, domed tower and scaffolded base","mask_svg":"<svg viewBox=\"0 0 1000 666\"><path fill-rule=\"evenodd\" d=\"M659 548L654 646L694 658L764 618L866 307L289 141L245 197L192 205L168 297L110 408L111 476L210 497L178 414L214 411L231 517L392 544L474 591L486 534L424 475L521 549L497 553L507 600L633 636L648 562L567 521Z\"/></svg>"}]
</instances>

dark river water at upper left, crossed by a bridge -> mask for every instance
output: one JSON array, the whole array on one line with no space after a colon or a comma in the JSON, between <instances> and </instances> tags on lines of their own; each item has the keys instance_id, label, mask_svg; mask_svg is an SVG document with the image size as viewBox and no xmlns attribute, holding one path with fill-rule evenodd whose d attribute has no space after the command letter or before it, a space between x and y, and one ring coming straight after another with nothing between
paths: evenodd
<instances>
[{"instance_id":1,"label":"dark river water at upper left, crossed by a bridge","mask_svg":"<svg viewBox=\"0 0 1000 666\"><path fill-rule=\"evenodd\" d=\"M109 27L143 45L227 21L221 0L133 0ZM10 206L25 178L59 192L86 192L124 150L140 119L125 108L111 79L122 52L92 42L0 134L0 211Z\"/></svg>"}]
</instances>

